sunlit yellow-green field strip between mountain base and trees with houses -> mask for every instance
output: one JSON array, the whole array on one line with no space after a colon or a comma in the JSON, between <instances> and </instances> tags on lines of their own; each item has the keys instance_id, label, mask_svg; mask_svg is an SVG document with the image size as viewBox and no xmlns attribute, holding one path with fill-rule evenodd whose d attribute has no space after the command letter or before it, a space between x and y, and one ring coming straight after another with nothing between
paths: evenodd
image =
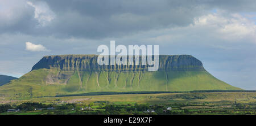
<instances>
[{"instance_id":1,"label":"sunlit yellow-green field strip between mountain base and trees with houses","mask_svg":"<svg viewBox=\"0 0 256 126\"><path fill-rule=\"evenodd\" d=\"M19 104L23 102L40 103L91 103L96 101L109 101L110 103L204 103L209 105L218 103L254 103L256 102L256 92L209 92L209 93L160 93L160 94L116 94L116 95L84 95L72 97L40 97L30 99L9 99L0 100L0 103Z\"/></svg>"}]
</instances>

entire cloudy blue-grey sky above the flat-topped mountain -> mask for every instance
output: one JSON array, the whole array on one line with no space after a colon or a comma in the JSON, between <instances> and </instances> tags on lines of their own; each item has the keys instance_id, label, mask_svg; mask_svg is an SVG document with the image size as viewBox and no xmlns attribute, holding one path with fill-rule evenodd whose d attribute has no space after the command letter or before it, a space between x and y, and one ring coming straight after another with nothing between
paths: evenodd
<instances>
[{"instance_id":1,"label":"entire cloudy blue-grey sky above the flat-topped mountain","mask_svg":"<svg viewBox=\"0 0 256 126\"><path fill-rule=\"evenodd\" d=\"M256 90L255 0L0 1L0 75L20 77L45 55L100 54L111 40L193 55L218 79Z\"/></svg>"}]
</instances>

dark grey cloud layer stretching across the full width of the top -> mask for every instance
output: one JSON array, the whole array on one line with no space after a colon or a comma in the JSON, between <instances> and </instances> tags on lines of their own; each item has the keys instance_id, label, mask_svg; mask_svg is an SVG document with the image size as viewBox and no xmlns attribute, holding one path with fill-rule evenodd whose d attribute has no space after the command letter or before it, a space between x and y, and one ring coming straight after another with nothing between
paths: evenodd
<instances>
[{"instance_id":1,"label":"dark grey cloud layer stretching across the full width of the top","mask_svg":"<svg viewBox=\"0 0 256 126\"><path fill-rule=\"evenodd\" d=\"M15 1L16 2L16 1ZM30 6L31 2L36 7ZM213 9L255 11L255 1L20 1L13 7L20 19L0 25L3 32L20 32L35 36L105 38L135 34L140 31L185 27ZM13 6L13 5L11 5ZM35 12L42 12L35 19ZM22 13L22 14L20 14ZM38 27L46 16L54 16L47 25ZM1 23L5 24L5 23Z\"/></svg>"}]
</instances>

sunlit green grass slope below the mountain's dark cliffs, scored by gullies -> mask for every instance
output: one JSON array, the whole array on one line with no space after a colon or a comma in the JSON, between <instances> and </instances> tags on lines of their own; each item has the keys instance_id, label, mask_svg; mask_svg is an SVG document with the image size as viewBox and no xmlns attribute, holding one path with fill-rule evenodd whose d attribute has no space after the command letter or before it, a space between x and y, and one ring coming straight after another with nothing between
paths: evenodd
<instances>
[{"instance_id":1,"label":"sunlit green grass slope below the mountain's dark cliffs, scored by gullies","mask_svg":"<svg viewBox=\"0 0 256 126\"><path fill-rule=\"evenodd\" d=\"M11 98L55 96L86 92L241 90L210 75L207 71L73 71L65 81L47 82L55 69L36 69L0 87Z\"/></svg>"}]
</instances>

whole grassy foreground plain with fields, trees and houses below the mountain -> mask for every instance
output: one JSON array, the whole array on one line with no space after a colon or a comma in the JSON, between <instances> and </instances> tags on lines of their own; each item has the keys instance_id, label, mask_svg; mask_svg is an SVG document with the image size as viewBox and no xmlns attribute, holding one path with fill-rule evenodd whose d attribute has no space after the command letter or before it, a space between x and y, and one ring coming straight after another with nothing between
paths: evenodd
<instances>
[{"instance_id":1,"label":"whole grassy foreground plain with fields, trees and houses below the mountain","mask_svg":"<svg viewBox=\"0 0 256 126\"><path fill-rule=\"evenodd\" d=\"M13 106L26 102L43 103L56 110L34 111L33 108L2 114L256 114L255 92L88 95L0 101L2 105ZM80 110L88 106L92 109Z\"/></svg>"}]
</instances>

